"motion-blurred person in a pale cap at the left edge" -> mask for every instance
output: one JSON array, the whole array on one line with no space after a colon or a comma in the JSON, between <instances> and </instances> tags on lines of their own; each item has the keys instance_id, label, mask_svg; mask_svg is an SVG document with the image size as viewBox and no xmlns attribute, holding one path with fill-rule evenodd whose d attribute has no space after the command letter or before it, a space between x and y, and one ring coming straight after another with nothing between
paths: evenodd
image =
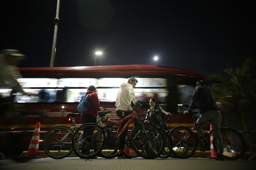
<instances>
[{"instance_id":1,"label":"motion-blurred person in a pale cap at the left edge","mask_svg":"<svg viewBox=\"0 0 256 170\"><path fill-rule=\"evenodd\" d=\"M0 52L0 89L12 89L12 93L20 92L26 94L22 89L18 78L22 78L18 65L26 56L19 50L1 50ZM0 94L0 102L12 102L13 98L3 97Z\"/></svg>"}]
</instances>

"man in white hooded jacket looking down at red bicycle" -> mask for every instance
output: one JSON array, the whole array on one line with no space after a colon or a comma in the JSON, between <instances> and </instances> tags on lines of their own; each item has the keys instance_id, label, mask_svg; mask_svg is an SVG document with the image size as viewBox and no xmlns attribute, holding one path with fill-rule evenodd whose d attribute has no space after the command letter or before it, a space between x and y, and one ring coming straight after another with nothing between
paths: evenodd
<instances>
[{"instance_id":1,"label":"man in white hooded jacket looking down at red bicycle","mask_svg":"<svg viewBox=\"0 0 256 170\"><path fill-rule=\"evenodd\" d=\"M133 91L133 88L137 85L138 80L134 77L129 78L127 83L122 83L119 87L117 97L116 97L116 115L120 117L120 119L123 119L124 117L131 114L131 111L133 110L131 107L131 102L136 106L137 102L135 99L135 93ZM125 120L121 124L121 128L128 122L128 119ZM125 137L127 135L128 128L125 130L125 132L120 136L119 138L119 154L117 156L118 159L131 159L131 157L126 156L123 152L123 149L125 147Z\"/></svg>"}]
</instances>

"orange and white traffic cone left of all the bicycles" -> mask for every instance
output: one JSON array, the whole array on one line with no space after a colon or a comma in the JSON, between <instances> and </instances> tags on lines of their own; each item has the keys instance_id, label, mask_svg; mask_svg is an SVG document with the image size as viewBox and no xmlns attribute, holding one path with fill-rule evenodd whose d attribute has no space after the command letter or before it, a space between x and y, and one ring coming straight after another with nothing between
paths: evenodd
<instances>
[{"instance_id":1,"label":"orange and white traffic cone left of all the bicycles","mask_svg":"<svg viewBox=\"0 0 256 170\"><path fill-rule=\"evenodd\" d=\"M36 129L31 139L30 145L28 147L27 157L41 158L38 157L38 147L39 147L39 136L40 136L40 123L36 124Z\"/></svg>"}]
</instances>

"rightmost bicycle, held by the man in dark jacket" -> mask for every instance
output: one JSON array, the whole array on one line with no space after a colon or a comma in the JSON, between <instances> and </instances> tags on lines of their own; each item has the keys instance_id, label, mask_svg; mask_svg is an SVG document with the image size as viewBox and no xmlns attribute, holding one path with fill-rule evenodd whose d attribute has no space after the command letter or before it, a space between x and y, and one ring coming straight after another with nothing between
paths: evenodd
<instances>
[{"instance_id":1,"label":"rightmost bicycle, held by the man in dark jacket","mask_svg":"<svg viewBox=\"0 0 256 170\"><path fill-rule=\"evenodd\" d=\"M172 140L174 140L173 154L177 158L190 158L197 150L198 144L203 149L203 151L209 148L207 139L213 133L213 129L211 129L207 133L204 139L202 136L199 135L199 143L197 143L193 130L196 130L198 133L197 125L199 124L196 123L194 114L197 114L197 112L189 113L189 115L192 116L194 122L194 126L192 128L187 128L185 126L177 126L173 128L169 134ZM204 124L211 124L211 122L207 122ZM231 128L224 128L222 125L220 127L220 132L223 140L224 158L226 160L237 160L241 158L241 156L243 156L245 152L245 140L243 139L243 137L236 130L233 130ZM212 140L213 147L216 150L216 138L213 137Z\"/></svg>"}]
</instances>

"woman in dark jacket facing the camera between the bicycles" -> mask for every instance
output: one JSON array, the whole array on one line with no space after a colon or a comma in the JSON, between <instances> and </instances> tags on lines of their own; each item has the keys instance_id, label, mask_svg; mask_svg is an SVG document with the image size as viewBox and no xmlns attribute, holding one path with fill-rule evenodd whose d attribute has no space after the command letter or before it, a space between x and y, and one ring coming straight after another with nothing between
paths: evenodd
<instances>
[{"instance_id":1,"label":"woman in dark jacket facing the camera between the bicycles","mask_svg":"<svg viewBox=\"0 0 256 170\"><path fill-rule=\"evenodd\" d=\"M171 113L166 112L160 105L156 104L156 99L154 99L154 98L151 98L149 100L149 105L151 107L148 109L148 111L153 110L153 109L158 110L158 111L149 112L146 115L146 118L149 118L153 124L156 124L156 125L164 124L165 123L165 122L163 122L164 115L171 115ZM145 120L145 122L148 122L148 120Z\"/></svg>"}]
</instances>

